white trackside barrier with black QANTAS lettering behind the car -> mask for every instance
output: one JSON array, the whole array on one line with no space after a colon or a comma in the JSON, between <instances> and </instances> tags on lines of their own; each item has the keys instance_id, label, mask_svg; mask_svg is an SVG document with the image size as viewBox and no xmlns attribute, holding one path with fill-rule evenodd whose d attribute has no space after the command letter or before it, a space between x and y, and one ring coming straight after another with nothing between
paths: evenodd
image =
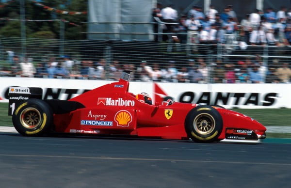
<instances>
[{"instance_id":1,"label":"white trackside barrier with black QANTAS lettering behind the car","mask_svg":"<svg viewBox=\"0 0 291 188\"><path fill-rule=\"evenodd\" d=\"M69 99L114 81L0 78L0 101L8 102L9 86L41 87L44 99ZM291 84L194 84L130 82L129 92L154 98L172 96L178 102L222 105L226 108L291 108Z\"/></svg>"}]
</instances>

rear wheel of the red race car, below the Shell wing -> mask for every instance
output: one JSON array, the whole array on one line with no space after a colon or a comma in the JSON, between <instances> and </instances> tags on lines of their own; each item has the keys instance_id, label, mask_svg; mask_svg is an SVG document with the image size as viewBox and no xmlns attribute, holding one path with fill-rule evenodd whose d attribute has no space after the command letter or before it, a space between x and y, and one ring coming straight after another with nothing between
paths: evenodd
<instances>
[{"instance_id":1,"label":"rear wheel of the red race car, below the Shell wing","mask_svg":"<svg viewBox=\"0 0 291 188\"><path fill-rule=\"evenodd\" d=\"M32 98L17 106L12 122L15 129L24 136L41 136L49 132L53 114L46 102Z\"/></svg>"}]
</instances>

